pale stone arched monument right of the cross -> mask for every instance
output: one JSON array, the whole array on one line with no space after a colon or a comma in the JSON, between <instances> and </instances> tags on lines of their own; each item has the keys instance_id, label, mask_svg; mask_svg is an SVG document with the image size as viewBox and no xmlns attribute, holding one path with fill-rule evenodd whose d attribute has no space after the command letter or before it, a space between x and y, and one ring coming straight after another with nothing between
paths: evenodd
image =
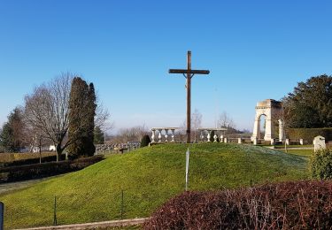
<instances>
[{"instance_id":1,"label":"pale stone arched monument right of the cross","mask_svg":"<svg viewBox=\"0 0 332 230\"><path fill-rule=\"evenodd\" d=\"M274 127L279 123L279 141L284 140L283 131L283 119L282 119L282 102L275 101L274 99L266 99L265 101L259 102L256 105L255 123L253 126L253 132L251 141L254 139L261 139L260 136L260 118L266 116L266 128L265 128L265 141L274 140L276 137Z\"/></svg>"}]
</instances>

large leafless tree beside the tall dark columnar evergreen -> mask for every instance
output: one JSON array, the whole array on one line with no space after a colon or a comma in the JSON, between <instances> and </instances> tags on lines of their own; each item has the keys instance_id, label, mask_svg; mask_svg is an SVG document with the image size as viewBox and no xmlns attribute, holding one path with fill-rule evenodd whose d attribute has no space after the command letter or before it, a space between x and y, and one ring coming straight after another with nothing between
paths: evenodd
<instances>
[{"instance_id":1,"label":"large leafless tree beside the tall dark columnar evergreen","mask_svg":"<svg viewBox=\"0 0 332 230\"><path fill-rule=\"evenodd\" d=\"M69 97L73 77L73 73L62 73L49 84L42 84L34 89L32 95L25 97L27 122L53 142L57 149L57 161L64 149L75 141L67 135L70 122L73 122L69 119ZM79 116L89 118L84 114ZM100 120L99 124L102 124L108 118L108 112L104 111L103 115L98 113L96 118Z\"/></svg>"}]
</instances>

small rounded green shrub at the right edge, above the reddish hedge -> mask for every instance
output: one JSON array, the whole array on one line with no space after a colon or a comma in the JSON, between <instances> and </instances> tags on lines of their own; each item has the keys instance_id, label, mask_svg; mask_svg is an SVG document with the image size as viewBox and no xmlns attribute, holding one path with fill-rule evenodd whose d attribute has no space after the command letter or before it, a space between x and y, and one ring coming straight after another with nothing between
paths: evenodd
<instances>
[{"instance_id":1,"label":"small rounded green shrub at the right edge, above the reddish hedge","mask_svg":"<svg viewBox=\"0 0 332 230\"><path fill-rule=\"evenodd\" d=\"M320 149L314 152L310 166L314 179L332 179L332 149Z\"/></svg>"}]
</instances>

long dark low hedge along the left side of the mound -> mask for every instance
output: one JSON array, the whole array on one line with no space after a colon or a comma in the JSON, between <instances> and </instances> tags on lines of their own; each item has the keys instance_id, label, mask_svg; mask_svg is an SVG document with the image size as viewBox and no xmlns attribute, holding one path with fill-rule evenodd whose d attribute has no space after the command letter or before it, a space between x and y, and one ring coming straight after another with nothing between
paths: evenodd
<instances>
[{"instance_id":1,"label":"long dark low hedge along the left side of the mound","mask_svg":"<svg viewBox=\"0 0 332 230\"><path fill-rule=\"evenodd\" d=\"M104 156L81 157L73 161L47 162L0 168L0 181L30 180L81 170L104 159Z\"/></svg>"}]
</instances>

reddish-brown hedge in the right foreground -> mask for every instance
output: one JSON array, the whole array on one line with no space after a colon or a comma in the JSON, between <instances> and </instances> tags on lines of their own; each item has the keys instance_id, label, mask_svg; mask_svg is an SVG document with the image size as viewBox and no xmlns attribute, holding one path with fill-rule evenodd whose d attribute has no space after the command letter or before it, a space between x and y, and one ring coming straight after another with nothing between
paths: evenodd
<instances>
[{"instance_id":1,"label":"reddish-brown hedge in the right foreground","mask_svg":"<svg viewBox=\"0 0 332 230\"><path fill-rule=\"evenodd\" d=\"M145 229L329 229L332 181L304 180L175 196Z\"/></svg>"}]
</instances>

